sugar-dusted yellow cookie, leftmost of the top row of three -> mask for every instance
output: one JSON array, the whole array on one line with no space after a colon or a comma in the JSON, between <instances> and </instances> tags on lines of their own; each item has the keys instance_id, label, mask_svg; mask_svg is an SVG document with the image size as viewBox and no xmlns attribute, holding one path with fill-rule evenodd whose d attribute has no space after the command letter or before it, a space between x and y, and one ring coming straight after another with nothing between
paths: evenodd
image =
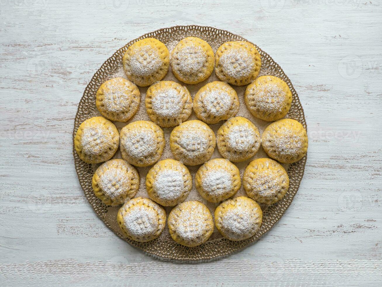
<instances>
[{"instance_id":1,"label":"sugar-dusted yellow cookie, leftmost of the top row of three","mask_svg":"<svg viewBox=\"0 0 382 287\"><path fill-rule=\"evenodd\" d=\"M168 72L170 53L165 44L146 38L128 47L122 58L123 69L134 84L145 87L162 80Z\"/></svg>"}]
</instances>

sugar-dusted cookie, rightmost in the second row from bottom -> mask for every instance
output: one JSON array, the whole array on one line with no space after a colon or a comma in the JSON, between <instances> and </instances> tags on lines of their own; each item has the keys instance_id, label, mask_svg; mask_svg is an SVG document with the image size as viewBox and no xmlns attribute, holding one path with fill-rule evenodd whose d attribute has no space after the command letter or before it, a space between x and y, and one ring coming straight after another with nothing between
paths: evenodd
<instances>
[{"instance_id":1,"label":"sugar-dusted cookie, rightmost in the second row from bottom","mask_svg":"<svg viewBox=\"0 0 382 287\"><path fill-rule=\"evenodd\" d=\"M289 178L280 163L270 158L251 161L244 171L244 190L253 200L274 204L285 196Z\"/></svg>"}]
</instances>

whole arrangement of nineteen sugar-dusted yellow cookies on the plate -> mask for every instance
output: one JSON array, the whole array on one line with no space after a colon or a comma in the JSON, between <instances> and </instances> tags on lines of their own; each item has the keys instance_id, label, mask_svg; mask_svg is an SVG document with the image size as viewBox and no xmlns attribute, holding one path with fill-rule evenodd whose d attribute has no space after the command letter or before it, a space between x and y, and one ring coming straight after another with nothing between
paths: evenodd
<instances>
[{"instance_id":1,"label":"whole arrangement of nineteen sugar-dusted yellow cookies on the plate","mask_svg":"<svg viewBox=\"0 0 382 287\"><path fill-rule=\"evenodd\" d=\"M214 227L233 241L255 235L262 223L259 204L275 204L288 191L288 174L280 163L300 160L308 148L304 127L284 118L292 101L288 85L272 75L259 77L260 54L245 41L225 42L214 55L204 40L187 37L170 54L165 44L146 38L128 47L122 64L127 79L100 85L96 107L103 117L79 126L74 148L86 163L103 162L92 188L104 204L121 205L117 223L123 234L147 242L168 228L174 241L188 247L206 242ZM203 82L214 70L220 81L201 86L192 98L181 83L162 81L170 65L176 79L188 85ZM233 86L244 85L238 95ZM111 121L127 122L137 113L137 86L148 86L144 106L151 121L132 121L118 132ZM262 134L249 119L236 116L240 98L254 117L271 122ZM192 111L198 120L188 120ZM211 124L221 124L216 134ZM160 160L166 145L174 159ZM220 158L212 159L216 146ZM241 178L236 165L253 158L261 146L270 158L252 160ZM112 159L118 147L122 159ZM193 179L189 168L197 165ZM147 198L134 198L140 181L134 166L149 169ZM215 204L214 212L200 201L187 201L193 184L202 199ZM247 196L235 197L241 186Z\"/></svg>"}]
</instances>

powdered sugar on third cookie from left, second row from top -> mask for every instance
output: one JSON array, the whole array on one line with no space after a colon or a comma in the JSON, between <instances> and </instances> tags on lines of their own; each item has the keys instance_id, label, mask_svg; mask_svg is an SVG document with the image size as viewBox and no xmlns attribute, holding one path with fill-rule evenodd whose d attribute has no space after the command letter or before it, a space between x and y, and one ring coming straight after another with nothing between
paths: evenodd
<instances>
[{"instance_id":1,"label":"powdered sugar on third cookie from left, second row from top","mask_svg":"<svg viewBox=\"0 0 382 287\"><path fill-rule=\"evenodd\" d=\"M205 91L201 97L207 112L213 116L227 114L233 103L233 98L226 91L220 89Z\"/></svg>"}]
</instances>

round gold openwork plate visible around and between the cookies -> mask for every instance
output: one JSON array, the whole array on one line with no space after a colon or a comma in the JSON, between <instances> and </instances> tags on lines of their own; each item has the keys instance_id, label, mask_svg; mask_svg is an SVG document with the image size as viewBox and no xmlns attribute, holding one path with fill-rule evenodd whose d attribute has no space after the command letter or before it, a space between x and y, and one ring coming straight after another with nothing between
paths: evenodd
<instances>
[{"instance_id":1,"label":"round gold openwork plate visible around and between the cookies","mask_svg":"<svg viewBox=\"0 0 382 287\"><path fill-rule=\"evenodd\" d=\"M126 49L133 44L134 42L137 42L138 40L144 39L144 38L156 38L159 41L163 42L167 47L168 50L171 52L172 49L175 47L175 45L183 38L194 36L199 37L206 42L210 44L214 52L216 52L217 48L227 41L247 41L246 39L237 36L235 34L232 34L228 31L215 29L212 27L201 27L201 26L175 26L171 28L165 28L160 29L148 34L145 34L138 39L134 39L133 41L126 44L126 46L119 49L117 52L115 52L112 57L106 60L106 62L99 68L99 70L94 74L93 78L91 79L90 83L86 86L86 89L84 91L84 95L81 98L81 101L78 105L78 111L76 114L76 118L74 119L74 130L73 130L73 139L76 134L76 131L79 127L79 125L85 121L86 119L89 119L90 117L94 116L100 116L100 113L98 112L97 108L95 107L95 95L97 93L97 90L99 86L104 83L106 80L109 80L113 77L125 77L125 74L123 72L122 68L122 56ZM256 45L255 45L256 46ZM257 47L257 46L256 46ZM261 71L259 76L262 75L273 75L275 77L281 78L284 80L293 95L293 101L292 106L290 108L289 113L286 115L286 117L295 119L299 121L305 128L306 128L306 122L304 117L304 111L301 106L301 103L299 101L298 95L293 88L292 83L290 82L289 78L285 75L282 68L275 63L275 61L264 51L262 51L259 47L257 47L258 51L261 54ZM178 82L176 78L174 77L171 67L163 80L172 80L175 82ZM181 83L182 85L185 85L190 93L191 96L194 97L195 93L199 88L204 86L208 82L216 81L218 80L215 76L215 72L212 73L212 75L204 82L196 84L196 85L186 85L184 83ZM233 88L236 90L239 99L240 99L240 111L236 116L243 116L248 118L250 121L252 121L259 129L260 133L264 130L264 128L269 124L269 122L261 121L259 119L256 119L253 117L249 111L247 110L245 104L244 104L244 91L246 89L246 86L233 86ZM118 130L121 130L123 126L128 124L132 121L138 121L138 120L148 120L149 117L147 116L146 109L145 109L145 96L146 96L146 88L139 88L141 92L141 104L138 113L130 119L127 123L115 123ZM193 113L190 119L196 119L195 114ZM220 122L219 124L209 125L214 132L216 133L217 129L222 125L223 122ZM173 158L172 153L170 151L168 139L172 128L170 129L163 129L165 132L165 140L166 140L166 147L163 151L162 159L165 158ZM249 243L252 243L259 239L260 236L262 236L265 232L270 230L270 228L280 219L280 217L284 214L285 210L289 207L291 204L293 197L295 196L299 184L301 182L301 179L303 178L304 174L304 167L306 163L306 156L304 156L301 160L299 160L296 163L290 164L290 165L283 165L288 172L289 179L290 179L290 186L289 190L286 193L285 197L281 199L279 202L272 204L272 205L262 205L263 210L263 221L260 230L251 238L242 240L242 241L230 241L225 238L223 238L219 232L217 232L216 228L214 233L212 233L212 236L210 239L199 246L196 247L186 247L182 246L175 241L172 240L170 235L168 234L168 228L167 224L165 227L165 230L163 230L162 235L159 236L156 240L152 240L146 243L140 243L137 241L133 241L130 239L127 239L124 237L121 233L120 228L118 227L116 216L117 211L119 207L110 207L107 205L104 205L97 197L95 197L92 189L92 176L97 169L99 165L91 165L84 163L81 161L74 150L73 147L73 155L74 155L74 165L76 167L76 171L78 174L79 183L81 184L81 187L84 190L85 196L89 203L92 205L95 213L102 219L102 221L109 227L115 234L117 234L120 238L123 238L123 240L127 241L133 246L136 246L147 253L151 255L156 255L158 257L162 257L165 259L176 259L180 261L197 261L197 260L208 260L215 258L217 256L222 256L234 251L237 251L245 246L247 246ZM221 157L219 152L217 151L217 148L215 148L214 155L212 158ZM260 148L259 152L255 155L255 157L251 158L253 160L254 158L261 158L261 157L267 157L267 155L264 153L262 148ZM121 158L120 152L116 153L116 155L113 158ZM248 165L248 163L251 161L245 161L243 163L238 163L236 166L238 166L240 170L241 176L243 176L244 169ZM140 188L136 196L143 196L148 197L146 187L145 187L145 180L146 180L146 174L151 166L145 167L145 168L137 168L139 171L139 174L141 176L141 182L140 182ZM189 200L199 200L201 202L204 202L207 207L211 210L212 214L214 214L215 207L218 204L206 202L204 199L202 199L199 195L199 193L195 189L195 173L199 166L188 166L189 171L191 172L191 175L193 176L193 189L191 190L188 198L186 201ZM245 192L243 190L243 187L240 188L236 196L245 195ZM171 207L166 207L167 215L172 209Z\"/></svg>"}]
</instances>

